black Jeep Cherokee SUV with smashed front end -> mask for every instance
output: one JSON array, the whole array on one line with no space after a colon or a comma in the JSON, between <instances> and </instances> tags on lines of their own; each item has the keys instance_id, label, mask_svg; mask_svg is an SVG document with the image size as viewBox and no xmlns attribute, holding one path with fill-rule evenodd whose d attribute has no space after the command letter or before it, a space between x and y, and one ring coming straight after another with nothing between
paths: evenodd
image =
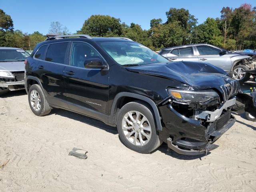
<instances>
[{"instance_id":1,"label":"black Jeep Cherokee SUV with smashed front end","mask_svg":"<svg viewBox=\"0 0 256 192\"><path fill-rule=\"evenodd\" d=\"M25 61L25 87L37 116L62 108L117 126L130 149L149 153L166 142L196 155L235 122L240 91L224 70L169 62L127 38L50 36Z\"/></svg>"}]
</instances>

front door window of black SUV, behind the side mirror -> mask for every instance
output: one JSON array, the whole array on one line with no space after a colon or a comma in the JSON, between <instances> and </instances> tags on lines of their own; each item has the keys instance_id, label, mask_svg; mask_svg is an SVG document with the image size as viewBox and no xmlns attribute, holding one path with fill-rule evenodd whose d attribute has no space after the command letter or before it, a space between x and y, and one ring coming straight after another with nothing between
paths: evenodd
<instances>
[{"instance_id":1,"label":"front door window of black SUV, behind the side mirror","mask_svg":"<svg viewBox=\"0 0 256 192\"><path fill-rule=\"evenodd\" d=\"M84 68L86 60L94 58L102 59L98 52L89 44L82 42L73 42L71 48L70 65Z\"/></svg>"}]
</instances>

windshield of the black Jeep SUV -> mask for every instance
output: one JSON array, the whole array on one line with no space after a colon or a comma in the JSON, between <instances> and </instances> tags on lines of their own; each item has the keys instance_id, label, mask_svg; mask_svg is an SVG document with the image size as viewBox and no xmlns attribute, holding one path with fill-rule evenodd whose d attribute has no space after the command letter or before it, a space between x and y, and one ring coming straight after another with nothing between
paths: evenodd
<instances>
[{"instance_id":1,"label":"windshield of the black Jeep SUV","mask_svg":"<svg viewBox=\"0 0 256 192\"><path fill-rule=\"evenodd\" d=\"M122 66L169 62L168 59L136 42L108 41L98 43L118 64Z\"/></svg>"}]
</instances>

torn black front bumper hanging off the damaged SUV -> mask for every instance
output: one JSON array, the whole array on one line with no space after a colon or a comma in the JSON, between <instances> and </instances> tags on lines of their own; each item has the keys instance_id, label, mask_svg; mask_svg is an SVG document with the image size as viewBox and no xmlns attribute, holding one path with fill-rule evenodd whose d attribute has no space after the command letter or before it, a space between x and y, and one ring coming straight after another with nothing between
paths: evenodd
<instances>
[{"instance_id":1,"label":"torn black front bumper hanging off the damaged SUV","mask_svg":"<svg viewBox=\"0 0 256 192\"><path fill-rule=\"evenodd\" d=\"M217 148L212 144L235 123L231 110L225 110L215 121L203 123L183 116L171 104L161 106L163 131L160 138L179 154L200 155ZM208 118L206 118L208 119Z\"/></svg>"}]
</instances>

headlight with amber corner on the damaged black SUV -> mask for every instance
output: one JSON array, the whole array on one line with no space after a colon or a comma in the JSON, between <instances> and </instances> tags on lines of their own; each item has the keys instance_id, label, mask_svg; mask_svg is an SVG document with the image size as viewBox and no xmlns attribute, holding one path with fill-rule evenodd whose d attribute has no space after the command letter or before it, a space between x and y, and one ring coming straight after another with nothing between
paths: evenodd
<instances>
[{"instance_id":1,"label":"headlight with amber corner on the damaged black SUV","mask_svg":"<svg viewBox=\"0 0 256 192\"><path fill-rule=\"evenodd\" d=\"M214 90L188 91L179 89L168 89L170 96L180 102L198 103L206 102L212 98L218 98L219 95Z\"/></svg>"}]
</instances>

